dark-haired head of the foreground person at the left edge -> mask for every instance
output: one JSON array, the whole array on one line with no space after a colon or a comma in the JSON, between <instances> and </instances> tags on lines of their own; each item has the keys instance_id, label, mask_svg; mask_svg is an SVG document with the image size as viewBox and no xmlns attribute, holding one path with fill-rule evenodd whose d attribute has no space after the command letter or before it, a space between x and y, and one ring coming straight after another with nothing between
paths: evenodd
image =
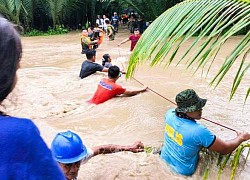
<instances>
[{"instance_id":1,"label":"dark-haired head of the foreground person at the left edge","mask_svg":"<svg viewBox=\"0 0 250 180\"><path fill-rule=\"evenodd\" d=\"M21 40L13 25L0 15L0 102L16 85L22 55Z\"/></svg>"}]
</instances>

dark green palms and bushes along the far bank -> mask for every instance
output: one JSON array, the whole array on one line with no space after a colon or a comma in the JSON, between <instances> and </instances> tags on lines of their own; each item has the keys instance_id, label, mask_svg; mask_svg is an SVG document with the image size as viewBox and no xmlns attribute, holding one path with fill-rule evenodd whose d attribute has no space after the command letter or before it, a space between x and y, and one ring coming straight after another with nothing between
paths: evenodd
<instances>
[{"instance_id":1,"label":"dark green palms and bushes along the far bank","mask_svg":"<svg viewBox=\"0 0 250 180\"><path fill-rule=\"evenodd\" d=\"M95 25L96 16L113 12L121 15L126 9L138 12L144 20L153 21L180 0L0 0L0 12L25 34L40 34L63 25L67 29L82 29ZM34 31L36 29L37 31Z\"/></svg>"}]
</instances>

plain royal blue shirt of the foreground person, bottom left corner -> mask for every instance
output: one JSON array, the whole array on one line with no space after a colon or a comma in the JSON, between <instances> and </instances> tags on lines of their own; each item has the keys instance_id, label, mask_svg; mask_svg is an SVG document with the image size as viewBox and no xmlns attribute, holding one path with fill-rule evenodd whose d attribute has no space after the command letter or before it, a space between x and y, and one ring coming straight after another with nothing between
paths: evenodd
<instances>
[{"instance_id":1,"label":"plain royal blue shirt of the foreground person, bottom left corner","mask_svg":"<svg viewBox=\"0 0 250 180\"><path fill-rule=\"evenodd\" d=\"M0 115L2 180L64 180L58 163L29 119Z\"/></svg>"}]
</instances>

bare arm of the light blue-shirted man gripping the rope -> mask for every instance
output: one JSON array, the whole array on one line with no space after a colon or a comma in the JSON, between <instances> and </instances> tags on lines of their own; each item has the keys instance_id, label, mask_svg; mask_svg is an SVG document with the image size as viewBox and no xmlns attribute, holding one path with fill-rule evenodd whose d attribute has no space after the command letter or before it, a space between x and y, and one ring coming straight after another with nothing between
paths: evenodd
<instances>
[{"instance_id":1,"label":"bare arm of the light blue-shirted man gripping the rope","mask_svg":"<svg viewBox=\"0 0 250 180\"><path fill-rule=\"evenodd\" d=\"M233 152L242 142L250 139L250 134L248 133L237 133L237 137L232 140L223 141L216 137L215 142L209 148L209 150L218 152L220 154L228 154Z\"/></svg>"}]
</instances>

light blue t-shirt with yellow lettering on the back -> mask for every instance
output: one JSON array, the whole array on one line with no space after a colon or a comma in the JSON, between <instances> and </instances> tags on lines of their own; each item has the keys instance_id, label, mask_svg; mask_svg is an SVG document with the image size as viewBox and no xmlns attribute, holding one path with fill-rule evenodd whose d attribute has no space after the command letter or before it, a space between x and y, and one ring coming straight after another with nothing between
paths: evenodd
<instances>
[{"instance_id":1,"label":"light blue t-shirt with yellow lettering on the back","mask_svg":"<svg viewBox=\"0 0 250 180\"><path fill-rule=\"evenodd\" d=\"M179 118L175 110L165 115L164 145L161 158L182 175L192 175L197 167L199 151L209 148L215 135L196 121Z\"/></svg>"}]
</instances>

